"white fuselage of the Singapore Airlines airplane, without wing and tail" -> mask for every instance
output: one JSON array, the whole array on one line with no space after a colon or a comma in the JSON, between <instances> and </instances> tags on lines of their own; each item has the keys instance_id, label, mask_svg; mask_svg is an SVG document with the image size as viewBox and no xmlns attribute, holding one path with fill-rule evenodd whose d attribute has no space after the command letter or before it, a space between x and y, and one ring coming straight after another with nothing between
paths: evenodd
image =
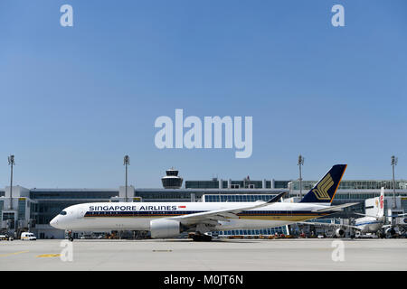
<instances>
[{"instance_id":1,"label":"white fuselage of the Singapore Airlines airplane, without wing and tail","mask_svg":"<svg viewBox=\"0 0 407 289\"><path fill-rule=\"evenodd\" d=\"M149 230L153 219L167 219L187 214L224 210L253 202L104 202L71 206L56 216L50 224L68 230ZM326 216L327 205L314 203L276 202L260 209L242 211L237 219L217 222L212 230L273 228L306 219Z\"/></svg>"}]
</instances>

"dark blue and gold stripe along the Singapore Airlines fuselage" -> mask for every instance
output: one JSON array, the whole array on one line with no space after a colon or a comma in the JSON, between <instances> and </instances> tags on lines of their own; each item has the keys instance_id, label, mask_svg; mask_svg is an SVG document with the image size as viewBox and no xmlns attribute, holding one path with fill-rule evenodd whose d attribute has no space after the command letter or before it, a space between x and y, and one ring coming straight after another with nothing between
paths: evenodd
<instances>
[{"instance_id":1,"label":"dark blue and gold stripe along the Singapore Airlines fuselage","mask_svg":"<svg viewBox=\"0 0 407 289\"><path fill-rule=\"evenodd\" d=\"M166 218L201 213L205 210L179 211L88 211L84 218ZM239 219L287 220L302 221L329 215L329 212L313 212L306 210L245 210L238 213Z\"/></svg>"}]
</instances>

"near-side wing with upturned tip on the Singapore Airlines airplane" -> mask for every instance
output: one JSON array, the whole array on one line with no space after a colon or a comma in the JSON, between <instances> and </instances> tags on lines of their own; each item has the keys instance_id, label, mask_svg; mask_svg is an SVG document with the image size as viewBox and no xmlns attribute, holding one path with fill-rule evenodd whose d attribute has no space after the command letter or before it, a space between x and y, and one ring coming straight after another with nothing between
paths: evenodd
<instances>
[{"instance_id":1,"label":"near-side wing with upturned tip on the Singapore Airlines airplane","mask_svg":"<svg viewBox=\"0 0 407 289\"><path fill-rule=\"evenodd\" d=\"M209 210L209 211L204 211L204 212L194 213L194 214L189 214L189 215L184 215L184 216L176 216L176 217L172 217L169 219L176 219L185 225L211 222L211 220L218 221L218 220L228 220L228 219L239 219L239 216L237 214L239 214L241 211L258 209L261 207L268 206L271 203L274 203L274 202L277 202L278 200L280 200L286 193L288 193L288 192L287 191L281 192L279 195L275 196L274 198L272 198L268 201L255 201L249 206L246 204L245 206L236 206L234 208L228 208L228 209L222 209L222 210Z\"/></svg>"}]
</instances>

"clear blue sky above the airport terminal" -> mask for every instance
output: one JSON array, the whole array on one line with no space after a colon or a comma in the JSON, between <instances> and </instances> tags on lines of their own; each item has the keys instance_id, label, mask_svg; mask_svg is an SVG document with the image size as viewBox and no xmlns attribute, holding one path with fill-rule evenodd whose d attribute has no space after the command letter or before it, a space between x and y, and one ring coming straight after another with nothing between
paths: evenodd
<instances>
[{"instance_id":1,"label":"clear blue sky above the airport terminal","mask_svg":"<svg viewBox=\"0 0 407 289\"><path fill-rule=\"evenodd\" d=\"M60 7L73 7L73 27ZM331 7L345 7L345 27ZM0 2L0 187L186 180L407 178L407 3ZM158 150L156 117L253 117L253 154ZM3 160L3 161L1 161Z\"/></svg>"}]
</instances>

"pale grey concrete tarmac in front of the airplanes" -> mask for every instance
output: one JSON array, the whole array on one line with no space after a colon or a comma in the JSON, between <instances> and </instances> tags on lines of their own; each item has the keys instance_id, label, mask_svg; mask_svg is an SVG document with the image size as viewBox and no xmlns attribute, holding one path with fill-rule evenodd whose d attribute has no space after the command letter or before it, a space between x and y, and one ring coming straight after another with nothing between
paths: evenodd
<instances>
[{"instance_id":1,"label":"pale grey concrete tarmac in front of the airplanes","mask_svg":"<svg viewBox=\"0 0 407 289\"><path fill-rule=\"evenodd\" d=\"M0 241L10 270L407 270L407 239Z\"/></svg>"}]
</instances>

